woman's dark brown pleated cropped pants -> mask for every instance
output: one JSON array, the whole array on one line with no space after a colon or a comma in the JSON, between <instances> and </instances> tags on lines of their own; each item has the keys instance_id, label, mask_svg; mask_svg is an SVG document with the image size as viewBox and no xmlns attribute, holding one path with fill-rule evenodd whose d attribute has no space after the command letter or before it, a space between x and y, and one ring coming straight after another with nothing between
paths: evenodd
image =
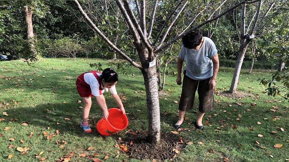
<instances>
[{"instance_id":1,"label":"woman's dark brown pleated cropped pants","mask_svg":"<svg viewBox=\"0 0 289 162\"><path fill-rule=\"evenodd\" d=\"M198 89L199 111L212 111L214 108L214 90L209 89L210 79L211 77L198 81L184 75L179 110L188 111L192 109L195 101L195 94Z\"/></svg>"}]
</instances>

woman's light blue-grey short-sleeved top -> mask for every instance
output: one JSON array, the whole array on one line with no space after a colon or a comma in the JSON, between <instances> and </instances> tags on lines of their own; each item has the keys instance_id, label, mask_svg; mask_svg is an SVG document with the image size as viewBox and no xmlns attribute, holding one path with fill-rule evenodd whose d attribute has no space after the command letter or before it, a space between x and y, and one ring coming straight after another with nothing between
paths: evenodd
<instances>
[{"instance_id":1,"label":"woman's light blue-grey short-sleeved top","mask_svg":"<svg viewBox=\"0 0 289 162\"><path fill-rule=\"evenodd\" d=\"M214 55L218 52L215 43L208 37L203 37L204 43L199 50L191 50L181 46L179 58L186 61L186 76L195 80L205 80L213 76Z\"/></svg>"}]
</instances>

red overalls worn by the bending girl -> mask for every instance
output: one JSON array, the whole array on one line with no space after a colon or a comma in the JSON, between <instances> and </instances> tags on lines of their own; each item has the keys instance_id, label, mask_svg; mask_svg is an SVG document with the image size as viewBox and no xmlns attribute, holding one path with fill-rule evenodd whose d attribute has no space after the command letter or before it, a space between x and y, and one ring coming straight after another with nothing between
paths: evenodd
<instances>
[{"instance_id":1,"label":"red overalls worn by the bending girl","mask_svg":"<svg viewBox=\"0 0 289 162\"><path fill-rule=\"evenodd\" d=\"M97 81L99 83L99 94L102 94L101 91L103 89L101 88L101 81L100 81L99 76L96 74L96 73L100 73L100 72L98 72L98 71L90 71L90 72L93 73L94 77L97 79ZM85 73L87 73L87 72L85 72ZM84 74L85 73L82 73L80 76L78 76L76 83L75 83L76 89L77 89L77 92L79 93L80 97L92 97L93 94L91 93L90 85L84 81Z\"/></svg>"}]
</instances>

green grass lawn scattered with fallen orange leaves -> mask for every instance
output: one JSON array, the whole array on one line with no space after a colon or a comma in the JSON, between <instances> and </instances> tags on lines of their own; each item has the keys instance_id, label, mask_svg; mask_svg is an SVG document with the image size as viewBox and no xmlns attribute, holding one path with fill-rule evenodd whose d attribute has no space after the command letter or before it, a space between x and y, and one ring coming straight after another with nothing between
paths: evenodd
<instances>
[{"instance_id":1,"label":"green grass lawn scattered with fallen orange leaves","mask_svg":"<svg viewBox=\"0 0 289 162\"><path fill-rule=\"evenodd\" d=\"M126 137L125 130L109 137L98 134L93 121L97 122L101 118L101 111L95 100L89 114L93 133L85 134L79 127L79 107L82 103L78 103L81 98L76 91L75 81L81 73L93 70L89 63L95 62L105 63L99 59L80 58L76 61L41 59L32 66L21 60L0 62L1 162L51 162L69 155L72 151L75 152L75 155L71 156L72 162L93 161L89 157L108 162L121 162L123 159L140 161L128 158L123 152L117 155L118 148L114 147L114 144L119 137ZM103 67L106 68L105 65ZM289 104L287 101L278 102L280 97L268 97L263 94L266 88L257 82L259 77L269 76L269 71L255 70L248 74L247 69L242 70L238 91L245 96L238 98L222 94L230 87L233 70L222 67L219 70L215 108L204 116L203 124L208 121L205 130L193 129L198 99L195 100L194 109L186 113L188 120L184 121L182 128L190 131L179 131L176 137L181 136L193 144L187 145L173 161L226 161L225 158L228 158L228 161L234 162L271 162L289 159ZM132 76L131 73L135 75ZM117 84L118 94L121 97L126 96L126 100L122 101L126 112L129 113L127 129L146 131L148 119L144 80L140 70L136 68L129 68L128 74L119 74ZM166 77L168 85L165 86L165 93L159 100L163 133L173 131L172 125L177 121L178 104L174 101L179 101L181 86L176 85L175 80L175 76ZM108 107L117 107L109 92L104 95ZM3 115L3 112L8 116ZM23 123L27 125L21 125ZM284 129L283 132L281 128ZM272 131L277 133L271 133ZM44 135L45 133L47 135ZM258 134L263 137L258 137ZM14 141L10 138L14 138ZM259 142L259 146L256 141ZM204 145L198 142L203 142ZM274 148L277 143L283 144L283 147ZM21 155L17 147L30 149L25 155ZM87 150L89 147L94 148ZM13 156L8 160L8 155L11 154ZM79 154L87 155L81 157ZM108 158L103 160L107 154Z\"/></svg>"}]
</instances>

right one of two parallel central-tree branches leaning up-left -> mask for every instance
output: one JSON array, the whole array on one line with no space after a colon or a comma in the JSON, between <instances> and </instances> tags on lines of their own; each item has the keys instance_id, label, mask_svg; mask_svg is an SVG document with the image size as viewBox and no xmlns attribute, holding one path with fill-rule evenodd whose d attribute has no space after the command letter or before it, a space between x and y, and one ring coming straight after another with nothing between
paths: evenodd
<instances>
[{"instance_id":1,"label":"right one of two parallel central-tree branches leaning up-left","mask_svg":"<svg viewBox=\"0 0 289 162\"><path fill-rule=\"evenodd\" d=\"M122 3L121 3L121 5L122 5ZM129 3L127 1L124 1L124 7L125 7L125 9L127 11L127 14L130 16L131 21L132 21L133 25L135 26L137 32L139 33L141 41L144 43L144 46L149 50L149 53L150 53L150 55L152 57L154 49L149 44L149 42L147 40L147 37L144 37L144 33L142 32L142 30L140 28L140 25L138 24L138 22L137 22L137 20L135 18L135 15L134 15L133 11L131 10L131 7L130 7L130 5L129 5Z\"/></svg>"}]
</instances>

